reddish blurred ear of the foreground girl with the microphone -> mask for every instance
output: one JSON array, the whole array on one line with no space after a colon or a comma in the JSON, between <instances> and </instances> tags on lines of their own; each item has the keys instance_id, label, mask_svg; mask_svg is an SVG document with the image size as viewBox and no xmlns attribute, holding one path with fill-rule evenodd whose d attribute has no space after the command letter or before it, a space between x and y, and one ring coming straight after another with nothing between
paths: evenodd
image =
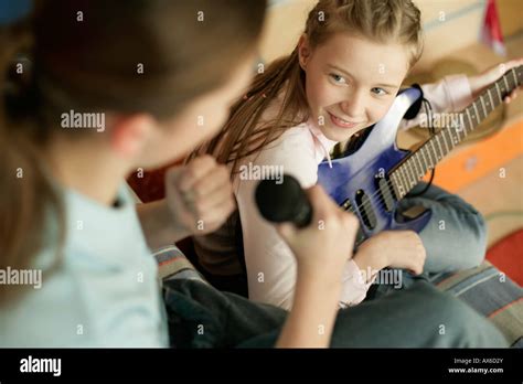
<instances>
[{"instance_id":1,"label":"reddish blurred ear of the foreground girl with the microphone","mask_svg":"<svg viewBox=\"0 0 523 384\"><path fill-rule=\"evenodd\" d=\"M137 114L115 117L110 135L110 148L118 157L135 159L154 130L154 119L147 114Z\"/></svg>"}]
</instances>

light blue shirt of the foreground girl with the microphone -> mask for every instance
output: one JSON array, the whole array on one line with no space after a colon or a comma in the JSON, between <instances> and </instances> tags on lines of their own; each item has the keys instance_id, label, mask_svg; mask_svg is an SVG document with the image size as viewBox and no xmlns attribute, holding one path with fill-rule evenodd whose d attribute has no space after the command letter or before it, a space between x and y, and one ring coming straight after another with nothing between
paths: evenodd
<instances>
[{"instance_id":1,"label":"light blue shirt of the foreground girl with the microphone","mask_svg":"<svg viewBox=\"0 0 523 384\"><path fill-rule=\"evenodd\" d=\"M41 288L0 308L0 346L167 346L158 266L125 186L118 207L64 192L65 244L34 259ZM53 227L50 217L47 231ZM52 232L52 231L51 231ZM52 236L46 236L47 243Z\"/></svg>"}]
</instances>

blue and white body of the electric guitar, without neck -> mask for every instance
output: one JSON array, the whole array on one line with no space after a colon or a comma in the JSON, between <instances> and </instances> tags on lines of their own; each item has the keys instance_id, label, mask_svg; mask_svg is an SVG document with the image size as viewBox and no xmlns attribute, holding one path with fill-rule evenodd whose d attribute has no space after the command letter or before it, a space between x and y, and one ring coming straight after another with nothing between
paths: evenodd
<instances>
[{"instance_id":1,"label":"blue and white body of the electric guitar, without neck","mask_svg":"<svg viewBox=\"0 0 523 384\"><path fill-rule=\"evenodd\" d=\"M318 182L338 204L359 216L360 241L386 230L420 232L430 220L430 211L412 220L396 214L397 200L386 179L409 153L397 148L396 135L405 113L419 97L416 88L401 93L356 152L332 160L332 168L327 161L319 166Z\"/></svg>"}]
</instances>

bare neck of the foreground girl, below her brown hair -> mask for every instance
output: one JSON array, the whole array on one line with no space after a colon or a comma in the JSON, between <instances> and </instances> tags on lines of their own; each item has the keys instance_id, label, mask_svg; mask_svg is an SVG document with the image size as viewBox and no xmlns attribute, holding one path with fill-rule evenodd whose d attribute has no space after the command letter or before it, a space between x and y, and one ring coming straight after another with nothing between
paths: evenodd
<instances>
[{"instance_id":1,"label":"bare neck of the foreground girl, below her brown hair","mask_svg":"<svg viewBox=\"0 0 523 384\"><path fill-rule=\"evenodd\" d=\"M128 170L105 148L93 151L95 145L104 146L90 140L55 138L46 158L52 174L62 185L111 206Z\"/></svg>"}]
</instances>

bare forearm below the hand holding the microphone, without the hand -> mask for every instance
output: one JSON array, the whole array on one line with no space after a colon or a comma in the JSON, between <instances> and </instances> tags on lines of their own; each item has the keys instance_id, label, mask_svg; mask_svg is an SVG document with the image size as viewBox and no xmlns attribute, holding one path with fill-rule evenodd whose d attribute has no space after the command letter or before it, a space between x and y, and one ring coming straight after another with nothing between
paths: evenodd
<instances>
[{"instance_id":1,"label":"bare forearm below the hand holding the microphone, without the hand","mask_svg":"<svg viewBox=\"0 0 523 384\"><path fill-rule=\"evenodd\" d=\"M277 348L327 348L339 309L341 284L298 270L292 308Z\"/></svg>"}]
</instances>

